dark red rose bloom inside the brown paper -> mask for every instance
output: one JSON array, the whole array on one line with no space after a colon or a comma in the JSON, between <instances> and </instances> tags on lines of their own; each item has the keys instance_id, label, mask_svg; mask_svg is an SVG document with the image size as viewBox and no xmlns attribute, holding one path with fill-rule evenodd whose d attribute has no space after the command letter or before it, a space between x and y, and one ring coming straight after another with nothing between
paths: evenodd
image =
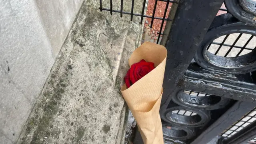
<instances>
[{"instance_id":1,"label":"dark red rose bloom inside the brown paper","mask_svg":"<svg viewBox=\"0 0 256 144\"><path fill-rule=\"evenodd\" d=\"M154 69L153 62L146 62L145 60L140 60L135 64L132 64L130 70L127 71L124 82L129 88L132 84L137 82L140 78L151 72Z\"/></svg>"}]
</instances>

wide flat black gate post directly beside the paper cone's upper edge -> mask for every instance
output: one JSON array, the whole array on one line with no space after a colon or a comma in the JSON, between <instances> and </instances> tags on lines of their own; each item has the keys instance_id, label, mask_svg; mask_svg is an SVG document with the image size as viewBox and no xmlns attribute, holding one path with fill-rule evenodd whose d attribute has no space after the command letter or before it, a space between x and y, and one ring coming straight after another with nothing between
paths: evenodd
<instances>
[{"instance_id":1,"label":"wide flat black gate post directly beside the paper cone's upper edge","mask_svg":"<svg viewBox=\"0 0 256 144\"><path fill-rule=\"evenodd\" d=\"M179 2L165 44L168 54L160 113L164 112L169 104L178 82L182 79L223 2L224 0L181 0Z\"/></svg>"}]
</instances>

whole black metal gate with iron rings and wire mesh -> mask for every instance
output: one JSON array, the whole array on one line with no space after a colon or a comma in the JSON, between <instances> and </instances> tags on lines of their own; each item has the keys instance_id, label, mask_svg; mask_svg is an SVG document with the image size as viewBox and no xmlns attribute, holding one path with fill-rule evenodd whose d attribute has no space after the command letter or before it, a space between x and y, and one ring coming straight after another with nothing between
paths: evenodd
<instances>
[{"instance_id":1,"label":"whole black metal gate with iron rings and wire mesh","mask_svg":"<svg viewBox=\"0 0 256 144\"><path fill-rule=\"evenodd\" d=\"M155 17L157 2L166 2ZM221 8L223 2L225 8ZM169 3L172 8L168 18ZM168 50L160 115L167 144L256 143L256 2L254 0L155 0L162 20L157 43ZM216 16L218 11L227 14ZM166 26L162 33L162 28ZM141 144L138 140L134 144Z\"/></svg>"}]
</instances>

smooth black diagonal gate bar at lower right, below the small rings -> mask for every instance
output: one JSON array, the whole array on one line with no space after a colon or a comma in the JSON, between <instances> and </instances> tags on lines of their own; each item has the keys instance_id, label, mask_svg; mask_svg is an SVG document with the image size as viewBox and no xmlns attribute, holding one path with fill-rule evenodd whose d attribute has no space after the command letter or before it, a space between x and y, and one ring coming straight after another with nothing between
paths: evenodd
<instances>
[{"instance_id":1,"label":"smooth black diagonal gate bar at lower right, below the small rings","mask_svg":"<svg viewBox=\"0 0 256 144\"><path fill-rule=\"evenodd\" d=\"M218 120L210 125L191 144L207 144L212 138L221 134L228 126L234 124L247 112L252 110L256 104L250 102L236 102Z\"/></svg>"}]
</instances>

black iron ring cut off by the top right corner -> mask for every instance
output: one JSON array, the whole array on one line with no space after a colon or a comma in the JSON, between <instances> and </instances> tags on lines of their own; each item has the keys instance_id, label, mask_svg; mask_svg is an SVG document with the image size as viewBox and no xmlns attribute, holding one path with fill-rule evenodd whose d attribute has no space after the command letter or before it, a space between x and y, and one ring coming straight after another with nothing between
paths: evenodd
<instances>
[{"instance_id":1,"label":"black iron ring cut off by the top right corner","mask_svg":"<svg viewBox=\"0 0 256 144\"><path fill-rule=\"evenodd\" d=\"M252 0L225 0L224 3L228 12L235 18L256 26L256 2Z\"/></svg>"}]
</instances>

